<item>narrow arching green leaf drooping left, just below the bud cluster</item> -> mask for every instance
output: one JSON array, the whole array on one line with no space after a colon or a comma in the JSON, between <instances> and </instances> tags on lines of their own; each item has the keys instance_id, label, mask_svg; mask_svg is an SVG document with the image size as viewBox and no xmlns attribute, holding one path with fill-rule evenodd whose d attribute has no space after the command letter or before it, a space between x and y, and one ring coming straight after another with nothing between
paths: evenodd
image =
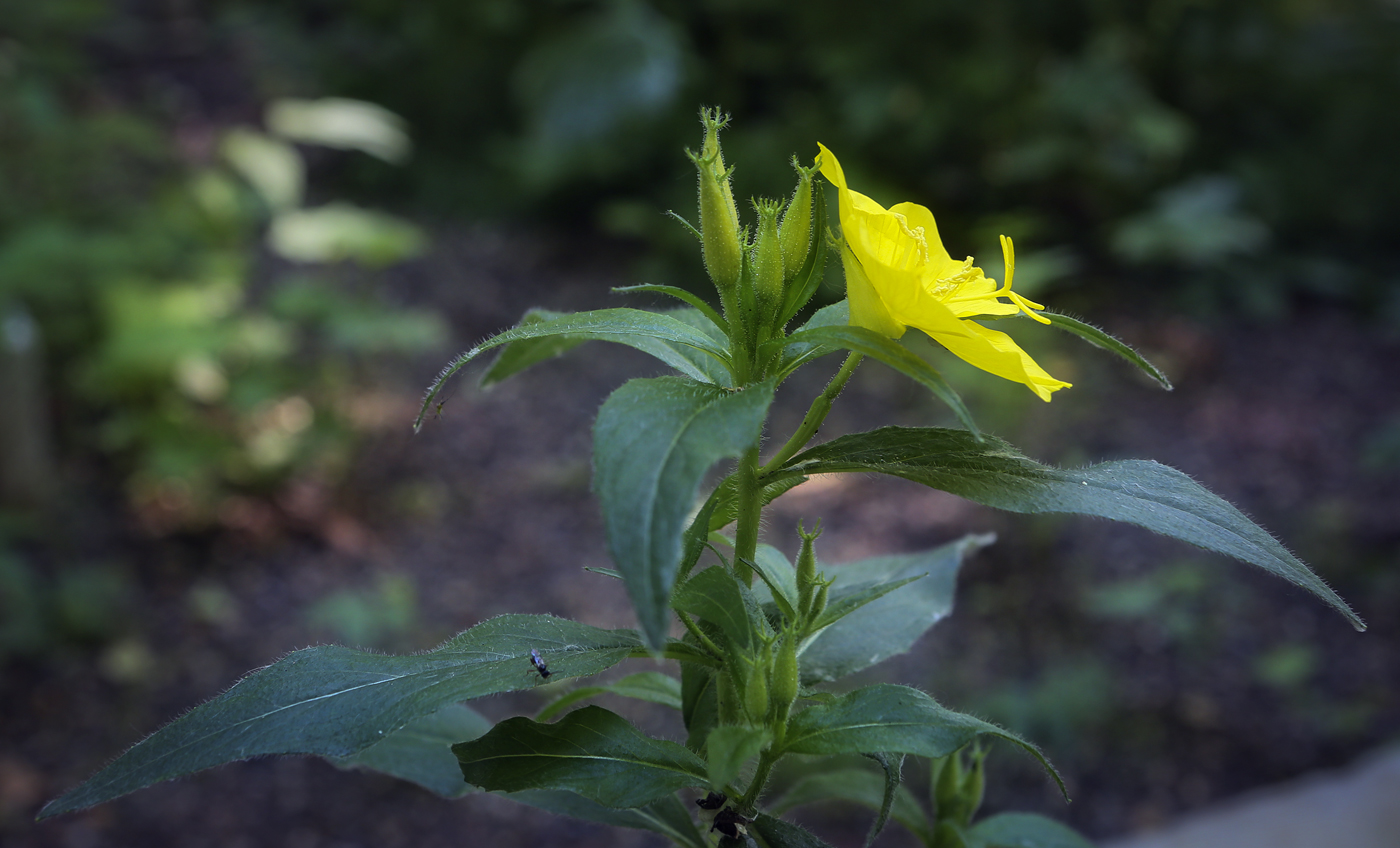
<instances>
[{"instance_id":1,"label":"narrow arching green leaf drooping left, just below the bud cluster","mask_svg":"<svg viewBox=\"0 0 1400 848\"><path fill-rule=\"evenodd\" d=\"M414 420L414 430L423 425L423 418L433 407L433 402L442 392L447 381L452 379L468 362L489 350L515 341L529 341L533 339L564 336L580 341L616 341L645 351L662 362L680 371L686 376L699 381L710 379L706 371L694 364L689 353L682 355L680 348L694 348L713 357L717 362L728 368L729 354L722 344L718 344L708 334L694 329L669 315L644 312L641 309L598 309L594 312L574 312L535 320L518 327L505 330L482 341L472 350L448 362L447 368L428 386L423 407ZM529 355L525 357L529 360ZM535 360L539 361L539 360ZM497 374L497 379L501 375Z\"/></svg>"}]
</instances>

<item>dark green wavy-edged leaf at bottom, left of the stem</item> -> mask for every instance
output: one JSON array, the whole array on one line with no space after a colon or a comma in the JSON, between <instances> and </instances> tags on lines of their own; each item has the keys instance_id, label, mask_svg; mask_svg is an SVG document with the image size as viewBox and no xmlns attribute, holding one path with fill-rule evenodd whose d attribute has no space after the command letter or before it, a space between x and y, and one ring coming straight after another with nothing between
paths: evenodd
<instances>
[{"instance_id":1,"label":"dark green wavy-edged leaf at bottom, left of the stem","mask_svg":"<svg viewBox=\"0 0 1400 848\"><path fill-rule=\"evenodd\" d=\"M602 707L575 709L553 725L510 718L452 753L466 781L483 789L568 789L605 807L640 807L708 785L694 753L651 739Z\"/></svg>"}]
</instances>

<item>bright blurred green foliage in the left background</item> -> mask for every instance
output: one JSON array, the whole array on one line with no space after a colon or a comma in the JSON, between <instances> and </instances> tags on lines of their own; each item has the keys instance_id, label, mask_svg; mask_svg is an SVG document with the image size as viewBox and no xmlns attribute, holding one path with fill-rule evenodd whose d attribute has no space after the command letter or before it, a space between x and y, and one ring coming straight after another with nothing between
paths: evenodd
<instances>
[{"instance_id":1,"label":"bright blurred green foliage in the left background","mask_svg":"<svg viewBox=\"0 0 1400 848\"><path fill-rule=\"evenodd\" d=\"M59 404L62 448L118 458L144 523L168 532L209 523L230 493L333 477L351 442L340 407L354 357L421 350L445 329L370 292L372 269L421 248L416 228L305 207L288 140L221 126L182 136L123 99L101 66L123 14L4 4L0 306L36 318L52 376L49 397L13 402ZM402 160L406 140L384 153L402 130L375 125L375 106L336 105L332 118L360 118L340 120L337 146ZM312 106L279 104L286 139L336 140L308 122ZM386 129L363 137L375 126ZM283 270L260 246L265 228L272 253L342 264Z\"/></svg>"}]
</instances>

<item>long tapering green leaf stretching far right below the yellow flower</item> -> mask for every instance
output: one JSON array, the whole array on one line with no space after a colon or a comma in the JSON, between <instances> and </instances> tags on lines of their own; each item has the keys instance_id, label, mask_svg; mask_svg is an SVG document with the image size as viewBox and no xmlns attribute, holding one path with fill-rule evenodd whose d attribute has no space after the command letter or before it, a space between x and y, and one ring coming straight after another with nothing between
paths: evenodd
<instances>
[{"instance_id":1,"label":"long tapering green leaf stretching far right below the yellow flower","mask_svg":"<svg viewBox=\"0 0 1400 848\"><path fill-rule=\"evenodd\" d=\"M1327 584L1239 509L1182 472L1127 459L1056 469L1007 442L977 442L959 430L883 427L846 435L792 458L780 474L879 472L1011 512L1075 512L1147 528L1259 565L1365 623Z\"/></svg>"}]
</instances>

